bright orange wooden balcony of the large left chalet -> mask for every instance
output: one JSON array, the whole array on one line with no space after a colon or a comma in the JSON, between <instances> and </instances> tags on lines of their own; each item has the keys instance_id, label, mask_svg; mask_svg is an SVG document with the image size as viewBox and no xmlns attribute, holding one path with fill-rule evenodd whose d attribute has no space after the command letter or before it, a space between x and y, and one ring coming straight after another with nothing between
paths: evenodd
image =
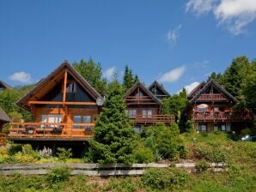
<instances>
[{"instance_id":1,"label":"bright orange wooden balcony of the large left chalet","mask_svg":"<svg viewBox=\"0 0 256 192\"><path fill-rule=\"evenodd\" d=\"M94 123L9 124L9 135L7 138L11 141L87 141L88 138L94 135Z\"/></svg>"}]
</instances>

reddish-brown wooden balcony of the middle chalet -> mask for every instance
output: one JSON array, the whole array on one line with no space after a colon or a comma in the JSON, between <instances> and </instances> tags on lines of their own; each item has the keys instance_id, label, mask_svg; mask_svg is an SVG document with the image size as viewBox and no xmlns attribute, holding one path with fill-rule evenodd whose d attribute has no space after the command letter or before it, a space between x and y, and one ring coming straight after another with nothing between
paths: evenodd
<instances>
[{"instance_id":1,"label":"reddish-brown wooden balcony of the middle chalet","mask_svg":"<svg viewBox=\"0 0 256 192\"><path fill-rule=\"evenodd\" d=\"M166 123L171 124L175 123L175 117L173 115L151 115L151 116L143 116L137 115L132 117L134 119L135 124L144 124L144 125L153 125L155 123Z\"/></svg>"}]
</instances>

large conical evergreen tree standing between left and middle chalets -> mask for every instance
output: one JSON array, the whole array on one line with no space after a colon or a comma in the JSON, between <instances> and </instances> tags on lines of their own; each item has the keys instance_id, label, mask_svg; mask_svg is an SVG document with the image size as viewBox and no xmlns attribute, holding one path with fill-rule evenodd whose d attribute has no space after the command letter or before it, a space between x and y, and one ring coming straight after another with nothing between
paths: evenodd
<instances>
[{"instance_id":1,"label":"large conical evergreen tree standing between left and middle chalets","mask_svg":"<svg viewBox=\"0 0 256 192\"><path fill-rule=\"evenodd\" d=\"M109 87L105 108L95 123L94 138L89 141L88 156L95 163L131 164L135 133L125 114L124 92L118 81Z\"/></svg>"}]
</instances>

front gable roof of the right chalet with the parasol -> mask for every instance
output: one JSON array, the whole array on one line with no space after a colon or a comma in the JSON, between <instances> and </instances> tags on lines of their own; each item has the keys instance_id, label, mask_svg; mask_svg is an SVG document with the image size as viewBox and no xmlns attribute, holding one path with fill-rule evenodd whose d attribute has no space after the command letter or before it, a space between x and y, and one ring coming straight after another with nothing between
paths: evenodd
<instances>
[{"instance_id":1,"label":"front gable roof of the right chalet with the parasol","mask_svg":"<svg viewBox=\"0 0 256 192\"><path fill-rule=\"evenodd\" d=\"M192 99L189 100L189 103L193 103L196 99L199 98L199 96L205 92L205 90L210 87L210 86L213 86L215 87L218 91L220 91L221 93L223 93L224 95L226 95L229 99L231 99L232 101L234 101L235 103L238 102L237 99L235 99L235 97L230 94L226 89L224 89L220 84L218 84L214 79L210 79L209 82L207 82L204 87L202 87L198 93L196 93Z\"/></svg>"}]
</instances>

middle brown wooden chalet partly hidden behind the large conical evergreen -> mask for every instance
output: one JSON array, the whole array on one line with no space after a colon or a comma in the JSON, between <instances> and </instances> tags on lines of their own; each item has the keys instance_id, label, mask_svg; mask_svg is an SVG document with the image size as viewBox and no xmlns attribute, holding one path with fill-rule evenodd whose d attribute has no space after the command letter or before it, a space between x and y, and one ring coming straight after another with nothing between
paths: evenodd
<instances>
[{"instance_id":1,"label":"middle brown wooden chalet partly hidden behind the large conical evergreen","mask_svg":"<svg viewBox=\"0 0 256 192\"><path fill-rule=\"evenodd\" d=\"M157 122L174 123L172 115L160 115L162 102L141 82L135 83L125 93L126 112L134 121L136 131Z\"/></svg>"}]
</instances>

